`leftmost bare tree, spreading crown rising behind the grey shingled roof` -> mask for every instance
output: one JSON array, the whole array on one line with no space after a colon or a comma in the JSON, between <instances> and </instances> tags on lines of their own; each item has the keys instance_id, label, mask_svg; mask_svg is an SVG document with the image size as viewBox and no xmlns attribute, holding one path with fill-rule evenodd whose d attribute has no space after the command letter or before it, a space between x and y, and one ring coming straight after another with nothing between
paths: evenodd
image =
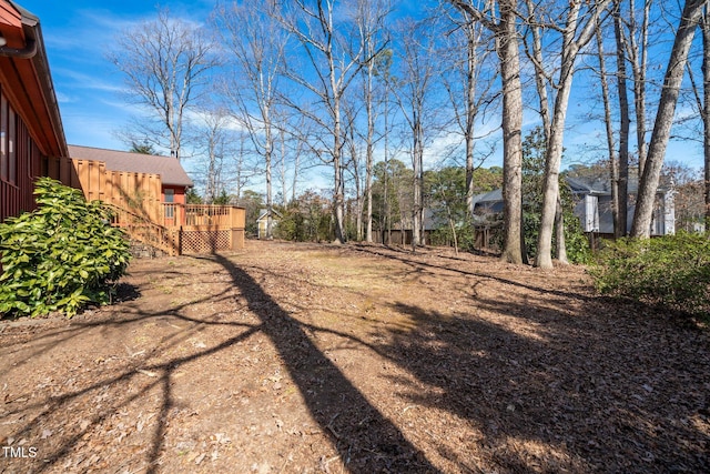
<instances>
[{"instance_id":1,"label":"leftmost bare tree, spreading crown rising behind the grey shingled roof","mask_svg":"<svg viewBox=\"0 0 710 474\"><path fill-rule=\"evenodd\" d=\"M130 141L148 141L180 160L189 108L206 92L210 71L217 65L212 41L197 26L160 10L116 38L109 60L125 75L126 98L146 108L128 132Z\"/></svg>"}]
</instances>

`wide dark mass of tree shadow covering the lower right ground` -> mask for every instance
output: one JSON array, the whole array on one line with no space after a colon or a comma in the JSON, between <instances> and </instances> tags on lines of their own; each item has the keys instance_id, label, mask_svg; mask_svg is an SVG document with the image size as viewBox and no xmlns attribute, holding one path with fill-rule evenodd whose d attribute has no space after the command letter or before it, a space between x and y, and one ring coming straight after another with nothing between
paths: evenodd
<instances>
[{"instance_id":1,"label":"wide dark mass of tree shadow covering the lower right ground","mask_svg":"<svg viewBox=\"0 0 710 474\"><path fill-rule=\"evenodd\" d=\"M574 316L541 300L478 296L470 312L454 315L393 310L416 327L390 331L377 347L417 381L393 381L408 386L400 396L468 420L497 468L710 472L709 441L697 424L708 410L710 359L704 350L688 353L701 343L682 341L697 331L663 334L631 315L619 324Z\"/></svg>"}]
</instances>

